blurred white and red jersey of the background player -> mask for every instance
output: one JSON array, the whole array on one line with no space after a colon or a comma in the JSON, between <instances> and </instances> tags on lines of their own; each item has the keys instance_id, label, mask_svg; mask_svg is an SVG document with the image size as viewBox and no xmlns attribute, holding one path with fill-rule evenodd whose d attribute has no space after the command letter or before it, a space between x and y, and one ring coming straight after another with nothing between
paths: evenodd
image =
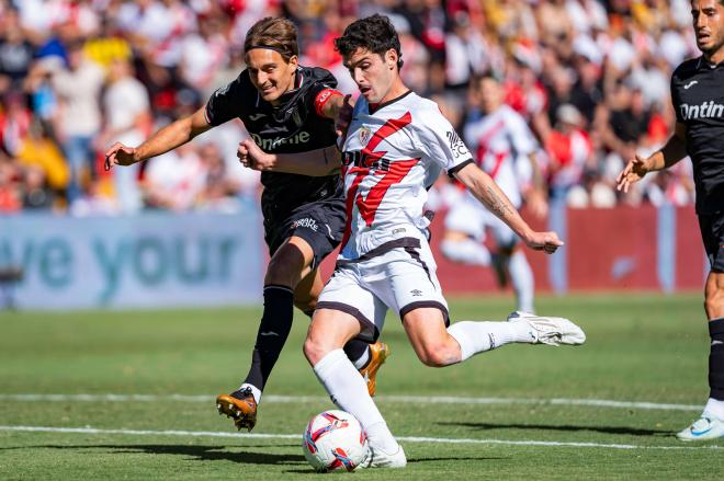
<instances>
[{"instance_id":1,"label":"blurred white and red jersey of the background player","mask_svg":"<svg viewBox=\"0 0 724 481\"><path fill-rule=\"evenodd\" d=\"M516 208L532 179L530 157L539 149L533 133L519 113L508 105L465 126L465 140L475 161L505 192Z\"/></svg>"}]
</instances>

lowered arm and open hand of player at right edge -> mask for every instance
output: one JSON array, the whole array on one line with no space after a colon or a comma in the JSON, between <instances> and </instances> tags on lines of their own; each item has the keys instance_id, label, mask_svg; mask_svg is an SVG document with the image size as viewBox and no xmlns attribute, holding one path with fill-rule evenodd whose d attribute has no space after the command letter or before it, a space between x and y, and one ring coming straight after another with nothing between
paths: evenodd
<instances>
[{"instance_id":1,"label":"lowered arm and open hand of player at right edge","mask_svg":"<svg viewBox=\"0 0 724 481\"><path fill-rule=\"evenodd\" d=\"M685 157L687 157L686 126L677 123L674 135L660 150L647 158L636 154L629 160L626 167L616 176L616 188L629 192L629 188L648 172L668 169Z\"/></svg>"}]
</instances>

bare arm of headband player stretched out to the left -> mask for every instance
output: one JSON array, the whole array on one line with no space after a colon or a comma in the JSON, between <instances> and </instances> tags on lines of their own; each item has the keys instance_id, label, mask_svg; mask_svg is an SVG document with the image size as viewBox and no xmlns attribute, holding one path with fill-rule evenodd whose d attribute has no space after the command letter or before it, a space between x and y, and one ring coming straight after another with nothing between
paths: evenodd
<instances>
[{"instance_id":1,"label":"bare arm of headband player stretched out to the left","mask_svg":"<svg viewBox=\"0 0 724 481\"><path fill-rule=\"evenodd\" d=\"M206 107L203 106L192 115L167 125L138 147L115 142L105 152L105 170L110 170L113 165L132 165L160 156L208 130L212 126L206 122L205 110Z\"/></svg>"}]
</instances>

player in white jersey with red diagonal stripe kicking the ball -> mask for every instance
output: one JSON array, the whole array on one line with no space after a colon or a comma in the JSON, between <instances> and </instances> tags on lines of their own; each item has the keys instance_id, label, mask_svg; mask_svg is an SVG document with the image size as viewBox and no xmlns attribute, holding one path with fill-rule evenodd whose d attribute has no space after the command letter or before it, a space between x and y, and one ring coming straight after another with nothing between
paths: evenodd
<instances>
[{"instance_id":1,"label":"player in white jersey with red diagonal stripe kicking the ball","mask_svg":"<svg viewBox=\"0 0 724 481\"><path fill-rule=\"evenodd\" d=\"M376 339L387 309L399 313L420 360L434 367L508 343L575 345L586 336L567 319L518 312L508 322L450 324L425 233L425 184L431 169L455 175L530 248L553 253L563 242L555 232L533 231L490 176L475 165L437 104L405 87L399 77L399 38L386 16L353 22L336 46L362 96L343 142L347 229L304 353L333 402L360 420L372 448L369 466L401 468L407 463L401 446L342 351L350 339ZM270 161L268 154L248 147L242 161L257 168L283 170L294 160L272 156ZM295 159L298 162L301 157Z\"/></svg>"}]
</instances>

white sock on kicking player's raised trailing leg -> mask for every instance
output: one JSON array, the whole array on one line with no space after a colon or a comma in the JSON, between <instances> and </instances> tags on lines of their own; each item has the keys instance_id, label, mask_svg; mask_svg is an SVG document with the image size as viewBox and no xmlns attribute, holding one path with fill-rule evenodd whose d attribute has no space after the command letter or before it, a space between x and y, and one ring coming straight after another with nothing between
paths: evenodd
<instances>
[{"instance_id":1,"label":"white sock on kicking player's raised trailing leg","mask_svg":"<svg viewBox=\"0 0 724 481\"><path fill-rule=\"evenodd\" d=\"M528 322L460 321L448 328L460 344L461 362L511 342L533 343Z\"/></svg>"}]
</instances>

